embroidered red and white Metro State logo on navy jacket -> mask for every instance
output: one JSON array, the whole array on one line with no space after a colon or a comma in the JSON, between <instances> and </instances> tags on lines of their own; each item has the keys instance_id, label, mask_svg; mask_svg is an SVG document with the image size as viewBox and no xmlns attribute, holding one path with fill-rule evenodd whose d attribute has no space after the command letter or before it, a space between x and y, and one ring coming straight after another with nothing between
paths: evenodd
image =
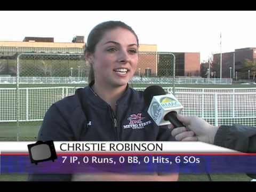
<instances>
[{"instance_id":1,"label":"embroidered red and white Metro State logo on navy jacket","mask_svg":"<svg viewBox=\"0 0 256 192\"><path fill-rule=\"evenodd\" d=\"M142 113L132 114L127 118L129 120L129 124L123 125L124 129L143 129L146 125L151 124L151 121L142 122L145 117L142 117Z\"/></svg>"}]
</instances>

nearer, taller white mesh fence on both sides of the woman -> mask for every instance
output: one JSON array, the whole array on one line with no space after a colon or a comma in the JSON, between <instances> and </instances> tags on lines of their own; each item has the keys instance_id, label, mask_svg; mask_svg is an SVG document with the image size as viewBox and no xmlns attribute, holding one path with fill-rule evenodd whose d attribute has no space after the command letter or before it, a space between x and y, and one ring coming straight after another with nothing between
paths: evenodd
<instances>
[{"instance_id":1,"label":"nearer, taller white mesh fence on both sides of the woman","mask_svg":"<svg viewBox=\"0 0 256 192\"><path fill-rule=\"evenodd\" d=\"M42 121L52 103L74 94L75 90L75 87L20 88L19 121ZM172 87L165 90L171 91ZM16 91L0 89L0 122L17 121ZM256 126L256 89L177 88L175 96L184 107L184 115L202 117L213 125Z\"/></svg>"}]
</instances>

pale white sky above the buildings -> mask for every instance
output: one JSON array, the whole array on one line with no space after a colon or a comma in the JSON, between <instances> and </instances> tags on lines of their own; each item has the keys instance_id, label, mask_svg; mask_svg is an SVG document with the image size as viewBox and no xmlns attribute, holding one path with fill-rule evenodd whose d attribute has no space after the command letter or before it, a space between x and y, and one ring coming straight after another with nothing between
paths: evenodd
<instances>
[{"instance_id":1,"label":"pale white sky above the buildings","mask_svg":"<svg viewBox=\"0 0 256 192\"><path fill-rule=\"evenodd\" d=\"M0 11L0 41L25 36L71 42L98 23L119 20L130 25L141 44L159 52L199 52L201 62L213 53L256 47L256 11Z\"/></svg>"}]
</instances>

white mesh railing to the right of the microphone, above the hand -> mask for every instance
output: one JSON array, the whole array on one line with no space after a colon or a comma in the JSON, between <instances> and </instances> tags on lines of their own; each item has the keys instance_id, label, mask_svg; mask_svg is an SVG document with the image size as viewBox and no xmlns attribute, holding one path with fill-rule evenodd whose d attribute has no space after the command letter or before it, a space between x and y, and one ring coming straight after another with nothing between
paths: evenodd
<instances>
[{"instance_id":1,"label":"white mesh railing to the right of the microphone, above the hand","mask_svg":"<svg viewBox=\"0 0 256 192\"><path fill-rule=\"evenodd\" d=\"M256 92L175 92L182 114L204 118L210 124L256 126Z\"/></svg>"}]
</instances>

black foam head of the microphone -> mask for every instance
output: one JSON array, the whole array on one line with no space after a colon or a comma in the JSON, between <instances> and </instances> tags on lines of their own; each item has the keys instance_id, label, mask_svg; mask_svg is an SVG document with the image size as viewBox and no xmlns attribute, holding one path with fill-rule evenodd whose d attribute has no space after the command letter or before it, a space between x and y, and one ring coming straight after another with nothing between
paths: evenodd
<instances>
[{"instance_id":1,"label":"black foam head of the microphone","mask_svg":"<svg viewBox=\"0 0 256 192\"><path fill-rule=\"evenodd\" d=\"M147 89L144 91L143 97L144 97L147 107L149 107L151 100L153 99L154 96L165 95L165 94L166 93L161 86L151 85L151 86L148 86Z\"/></svg>"}]
</instances>

